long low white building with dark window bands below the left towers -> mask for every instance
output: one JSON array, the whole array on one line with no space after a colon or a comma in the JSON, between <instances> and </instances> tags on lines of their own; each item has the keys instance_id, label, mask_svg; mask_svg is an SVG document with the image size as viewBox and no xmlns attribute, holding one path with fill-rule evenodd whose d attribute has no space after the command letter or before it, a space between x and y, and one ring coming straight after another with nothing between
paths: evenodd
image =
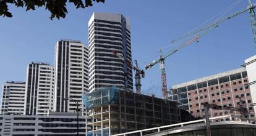
<instances>
[{"instance_id":1,"label":"long low white building with dark window bands below the left towers","mask_svg":"<svg viewBox=\"0 0 256 136\"><path fill-rule=\"evenodd\" d=\"M77 135L76 114L0 115L0 135L50 136ZM85 135L85 118L79 116L79 135Z\"/></svg>"}]
</instances>

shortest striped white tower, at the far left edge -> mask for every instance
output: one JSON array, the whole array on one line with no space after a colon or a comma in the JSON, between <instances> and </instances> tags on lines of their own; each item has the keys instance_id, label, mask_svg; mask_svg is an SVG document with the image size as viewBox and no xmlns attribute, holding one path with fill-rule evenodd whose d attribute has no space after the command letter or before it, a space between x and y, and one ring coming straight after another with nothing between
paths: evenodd
<instances>
[{"instance_id":1,"label":"shortest striped white tower, at the far left edge","mask_svg":"<svg viewBox=\"0 0 256 136\"><path fill-rule=\"evenodd\" d=\"M1 114L23 114L25 82L7 81L2 86Z\"/></svg>"}]
</instances>

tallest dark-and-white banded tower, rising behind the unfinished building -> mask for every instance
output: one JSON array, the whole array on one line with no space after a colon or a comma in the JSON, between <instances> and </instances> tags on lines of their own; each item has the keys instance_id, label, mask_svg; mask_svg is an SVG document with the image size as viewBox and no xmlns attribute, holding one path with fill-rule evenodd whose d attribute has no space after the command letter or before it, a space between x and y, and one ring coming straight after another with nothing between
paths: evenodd
<instances>
[{"instance_id":1,"label":"tallest dark-and-white banded tower, rising behind the unfinished building","mask_svg":"<svg viewBox=\"0 0 256 136\"><path fill-rule=\"evenodd\" d=\"M130 23L121 14L93 13L89 27L89 90L116 86L133 90L132 66L113 54L115 50L132 62Z\"/></svg>"}]
</instances>

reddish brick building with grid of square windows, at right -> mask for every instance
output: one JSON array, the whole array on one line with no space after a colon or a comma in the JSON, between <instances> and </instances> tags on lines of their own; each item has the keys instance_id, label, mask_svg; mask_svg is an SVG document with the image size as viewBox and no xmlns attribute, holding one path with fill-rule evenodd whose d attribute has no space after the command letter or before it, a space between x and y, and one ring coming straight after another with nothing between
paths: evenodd
<instances>
[{"instance_id":1,"label":"reddish brick building with grid of square windows, at right","mask_svg":"<svg viewBox=\"0 0 256 136\"><path fill-rule=\"evenodd\" d=\"M246 69L239 68L177 84L169 90L169 99L178 102L180 108L195 117L204 118L203 104L208 102L210 117L231 114L255 118L248 83Z\"/></svg>"}]
</instances>

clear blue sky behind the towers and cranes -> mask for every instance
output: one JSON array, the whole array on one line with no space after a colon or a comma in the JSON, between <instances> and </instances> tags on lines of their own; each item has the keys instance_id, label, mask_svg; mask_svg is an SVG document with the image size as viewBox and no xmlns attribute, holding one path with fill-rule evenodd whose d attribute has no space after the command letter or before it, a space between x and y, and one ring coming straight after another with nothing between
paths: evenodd
<instances>
[{"instance_id":1,"label":"clear blue sky behind the towers and cranes","mask_svg":"<svg viewBox=\"0 0 256 136\"><path fill-rule=\"evenodd\" d=\"M159 57L158 49L221 12L235 0L215 1L135 1L106 0L87 9L68 4L66 18L50 20L43 7L25 11L10 6L14 17L0 17L0 84L25 81L27 64L49 62L54 65L54 46L61 39L77 39L88 43L88 20L93 12L123 14L130 18L132 58L143 68ZM242 0L230 10L234 13L247 7ZM173 48L165 48L167 53ZM244 60L255 55L249 15L244 13L223 22L218 28L166 59L167 84L174 84L239 68ZM146 71L142 90L161 96L159 65Z\"/></svg>"}]
</instances>

